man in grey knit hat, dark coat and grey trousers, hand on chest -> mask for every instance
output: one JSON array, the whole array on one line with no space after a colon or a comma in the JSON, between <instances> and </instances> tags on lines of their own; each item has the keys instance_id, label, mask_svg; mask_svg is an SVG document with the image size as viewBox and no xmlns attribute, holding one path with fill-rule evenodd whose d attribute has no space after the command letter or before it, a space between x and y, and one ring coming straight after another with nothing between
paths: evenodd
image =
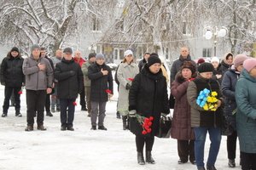
<instances>
[{"instance_id":1,"label":"man in grey knit hat, dark coat and grey trousers, hand on chest","mask_svg":"<svg viewBox=\"0 0 256 170\"><path fill-rule=\"evenodd\" d=\"M88 67L90 84L90 121L91 129L96 130L97 115L99 115L98 129L107 130L104 127L104 118L108 96L113 96L113 77L110 67L105 65L103 54L96 54L96 63ZM99 111L98 111L99 107Z\"/></svg>"}]
</instances>

